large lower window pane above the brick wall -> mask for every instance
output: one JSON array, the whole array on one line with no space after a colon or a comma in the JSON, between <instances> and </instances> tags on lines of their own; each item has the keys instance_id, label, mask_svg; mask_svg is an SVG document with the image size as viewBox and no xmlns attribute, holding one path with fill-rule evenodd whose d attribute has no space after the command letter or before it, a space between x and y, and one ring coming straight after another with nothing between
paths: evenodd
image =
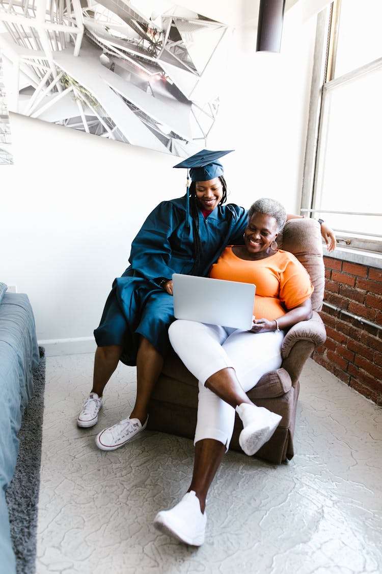
<instances>
[{"instance_id":1,"label":"large lower window pane above the brick wall","mask_svg":"<svg viewBox=\"0 0 382 574\"><path fill-rule=\"evenodd\" d=\"M381 102L382 67L325 91L315 208L382 212ZM377 216L328 220L337 229L382 234Z\"/></svg>"}]
</instances>

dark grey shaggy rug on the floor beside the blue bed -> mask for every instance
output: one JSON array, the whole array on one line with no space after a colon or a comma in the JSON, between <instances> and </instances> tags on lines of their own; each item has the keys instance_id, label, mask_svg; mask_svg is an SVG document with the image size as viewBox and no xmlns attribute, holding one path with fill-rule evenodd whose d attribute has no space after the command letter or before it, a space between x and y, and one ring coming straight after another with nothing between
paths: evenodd
<instances>
[{"instance_id":1,"label":"dark grey shaggy rug on the floor beside the blue bed","mask_svg":"<svg viewBox=\"0 0 382 574\"><path fill-rule=\"evenodd\" d=\"M17 574L36 572L37 504L40 491L42 416L44 412L45 349L33 371L34 395L24 411L19 432L16 470L6 491Z\"/></svg>"}]
</instances>

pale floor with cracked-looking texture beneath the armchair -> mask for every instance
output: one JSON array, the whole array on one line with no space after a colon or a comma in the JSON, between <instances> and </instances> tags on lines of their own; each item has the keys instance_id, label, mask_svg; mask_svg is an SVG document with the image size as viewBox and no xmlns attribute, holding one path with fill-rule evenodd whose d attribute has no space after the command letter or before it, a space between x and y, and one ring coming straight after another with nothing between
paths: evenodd
<instances>
[{"instance_id":1,"label":"pale floor with cracked-looking texture beneath the armchair","mask_svg":"<svg viewBox=\"0 0 382 574\"><path fill-rule=\"evenodd\" d=\"M78 429L92 370L88 354L47 359L37 574L382 572L382 410L321 366L301 378L292 461L227 453L199 549L152 525L188 488L192 441L147 431L97 449L129 413L135 369L121 365L98 424Z\"/></svg>"}]
</instances>

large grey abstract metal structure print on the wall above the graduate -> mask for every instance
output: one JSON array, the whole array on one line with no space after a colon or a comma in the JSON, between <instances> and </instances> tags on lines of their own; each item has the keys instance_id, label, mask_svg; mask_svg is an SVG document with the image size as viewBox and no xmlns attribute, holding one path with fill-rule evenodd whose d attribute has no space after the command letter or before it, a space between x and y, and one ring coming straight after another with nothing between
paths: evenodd
<instances>
[{"instance_id":1,"label":"large grey abstract metal structure print on the wall above the graduate","mask_svg":"<svg viewBox=\"0 0 382 574\"><path fill-rule=\"evenodd\" d=\"M167 0L0 0L10 111L181 157L207 146L230 38Z\"/></svg>"}]
</instances>

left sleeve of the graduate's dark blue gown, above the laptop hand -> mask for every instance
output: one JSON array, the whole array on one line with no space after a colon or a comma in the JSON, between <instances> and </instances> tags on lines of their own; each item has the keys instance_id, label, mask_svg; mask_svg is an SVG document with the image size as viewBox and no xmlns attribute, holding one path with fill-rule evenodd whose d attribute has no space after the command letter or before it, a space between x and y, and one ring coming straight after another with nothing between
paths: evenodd
<instances>
[{"instance_id":1,"label":"left sleeve of the graduate's dark blue gown, above the laptop hand","mask_svg":"<svg viewBox=\"0 0 382 574\"><path fill-rule=\"evenodd\" d=\"M135 272L149 280L171 278L172 247L170 238L182 224L184 214L171 201L162 201L145 220L131 245L129 262Z\"/></svg>"}]
</instances>

